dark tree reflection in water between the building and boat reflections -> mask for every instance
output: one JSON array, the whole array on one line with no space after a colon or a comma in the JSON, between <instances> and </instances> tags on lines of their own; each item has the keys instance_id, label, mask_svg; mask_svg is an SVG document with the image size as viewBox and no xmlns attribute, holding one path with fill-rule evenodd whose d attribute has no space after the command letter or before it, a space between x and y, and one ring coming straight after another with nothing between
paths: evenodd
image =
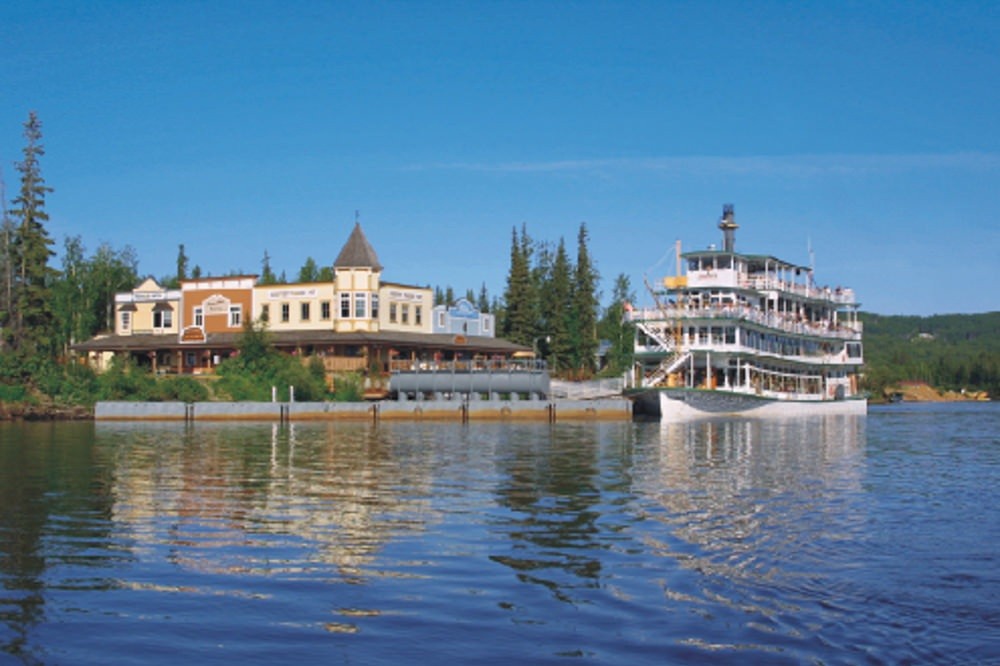
<instances>
[{"instance_id":1,"label":"dark tree reflection in water between the building and boat reflections","mask_svg":"<svg viewBox=\"0 0 1000 666\"><path fill-rule=\"evenodd\" d=\"M601 575L599 556L591 552L603 547L597 525L599 428L511 427L499 438L505 448L497 450L496 465L505 478L496 493L510 513L491 529L505 533L511 551L490 559L515 570L520 580L548 588L560 601L573 602L570 591L580 580L596 587Z\"/></svg>"}]
</instances>

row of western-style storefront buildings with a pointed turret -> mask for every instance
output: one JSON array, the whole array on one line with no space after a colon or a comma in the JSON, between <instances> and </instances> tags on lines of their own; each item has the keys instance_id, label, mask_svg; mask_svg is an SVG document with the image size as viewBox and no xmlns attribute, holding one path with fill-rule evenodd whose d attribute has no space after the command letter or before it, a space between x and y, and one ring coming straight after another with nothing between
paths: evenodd
<instances>
[{"instance_id":1,"label":"row of western-style storefront buildings with a pointed turret","mask_svg":"<svg viewBox=\"0 0 1000 666\"><path fill-rule=\"evenodd\" d=\"M394 361L526 350L495 338L493 316L464 299L439 311L429 287L383 281L358 223L334 261L332 281L262 285L255 275L237 275L184 280L168 290L146 280L116 296L113 334L75 348L99 369L121 354L158 372L207 373L235 351L248 320L266 323L278 349L322 357L329 372L387 372Z\"/></svg>"}]
</instances>

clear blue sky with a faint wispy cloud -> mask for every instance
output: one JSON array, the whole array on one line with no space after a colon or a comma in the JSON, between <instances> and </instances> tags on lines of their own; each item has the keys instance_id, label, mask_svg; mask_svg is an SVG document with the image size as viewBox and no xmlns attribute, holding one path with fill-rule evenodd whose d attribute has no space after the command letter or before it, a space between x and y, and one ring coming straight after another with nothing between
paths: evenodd
<instances>
[{"instance_id":1,"label":"clear blue sky with a faint wispy cloud","mask_svg":"<svg viewBox=\"0 0 1000 666\"><path fill-rule=\"evenodd\" d=\"M808 263L883 314L1000 309L997 2L0 4L7 198L30 110L49 231L175 271L332 263L501 294L511 230L605 297L680 239ZM58 259L56 260L58 263Z\"/></svg>"}]
</instances>

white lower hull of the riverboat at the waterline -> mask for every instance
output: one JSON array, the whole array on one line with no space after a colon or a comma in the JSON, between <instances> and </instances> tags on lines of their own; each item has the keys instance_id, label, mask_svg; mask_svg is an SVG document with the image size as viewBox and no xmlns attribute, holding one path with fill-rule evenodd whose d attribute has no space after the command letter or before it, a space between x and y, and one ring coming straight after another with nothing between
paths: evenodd
<instances>
[{"instance_id":1,"label":"white lower hull of the riverboat at the waterline","mask_svg":"<svg viewBox=\"0 0 1000 666\"><path fill-rule=\"evenodd\" d=\"M638 413L658 415L663 421L713 416L864 415L868 411L868 401L863 397L844 400L796 400L703 389L653 389L635 396L635 400Z\"/></svg>"}]
</instances>

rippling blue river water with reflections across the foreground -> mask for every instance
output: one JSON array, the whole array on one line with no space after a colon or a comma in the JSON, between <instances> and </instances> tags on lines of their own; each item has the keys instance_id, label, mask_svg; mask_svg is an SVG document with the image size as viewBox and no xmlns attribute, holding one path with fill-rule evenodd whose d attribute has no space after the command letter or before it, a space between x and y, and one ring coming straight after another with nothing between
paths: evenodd
<instances>
[{"instance_id":1,"label":"rippling blue river water with reflections across the foreground","mask_svg":"<svg viewBox=\"0 0 1000 666\"><path fill-rule=\"evenodd\" d=\"M0 663L1000 663L1000 404L0 424Z\"/></svg>"}]
</instances>

